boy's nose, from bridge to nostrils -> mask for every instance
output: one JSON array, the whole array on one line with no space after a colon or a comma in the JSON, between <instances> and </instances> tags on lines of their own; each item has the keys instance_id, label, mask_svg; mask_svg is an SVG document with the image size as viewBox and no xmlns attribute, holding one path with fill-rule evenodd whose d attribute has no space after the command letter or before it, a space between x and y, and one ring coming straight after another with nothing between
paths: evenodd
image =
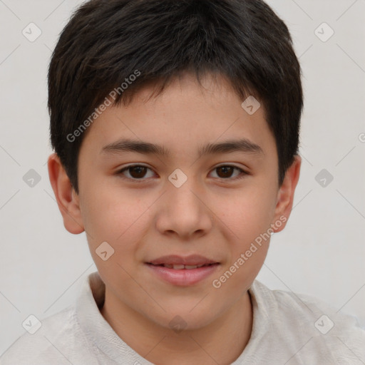
<instances>
[{"instance_id":1,"label":"boy's nose, from bridge to nostrils","mask_svg":"<svg viewBox=\"0 0 365 365\"><path fill-rule=\"evenodd\" d=\"M212 229L213 213L202 189L190 179L180 187L169 183L167 189L156 217L159 232L181 240L206 235Z\"/></svg>"}]
</instances>

